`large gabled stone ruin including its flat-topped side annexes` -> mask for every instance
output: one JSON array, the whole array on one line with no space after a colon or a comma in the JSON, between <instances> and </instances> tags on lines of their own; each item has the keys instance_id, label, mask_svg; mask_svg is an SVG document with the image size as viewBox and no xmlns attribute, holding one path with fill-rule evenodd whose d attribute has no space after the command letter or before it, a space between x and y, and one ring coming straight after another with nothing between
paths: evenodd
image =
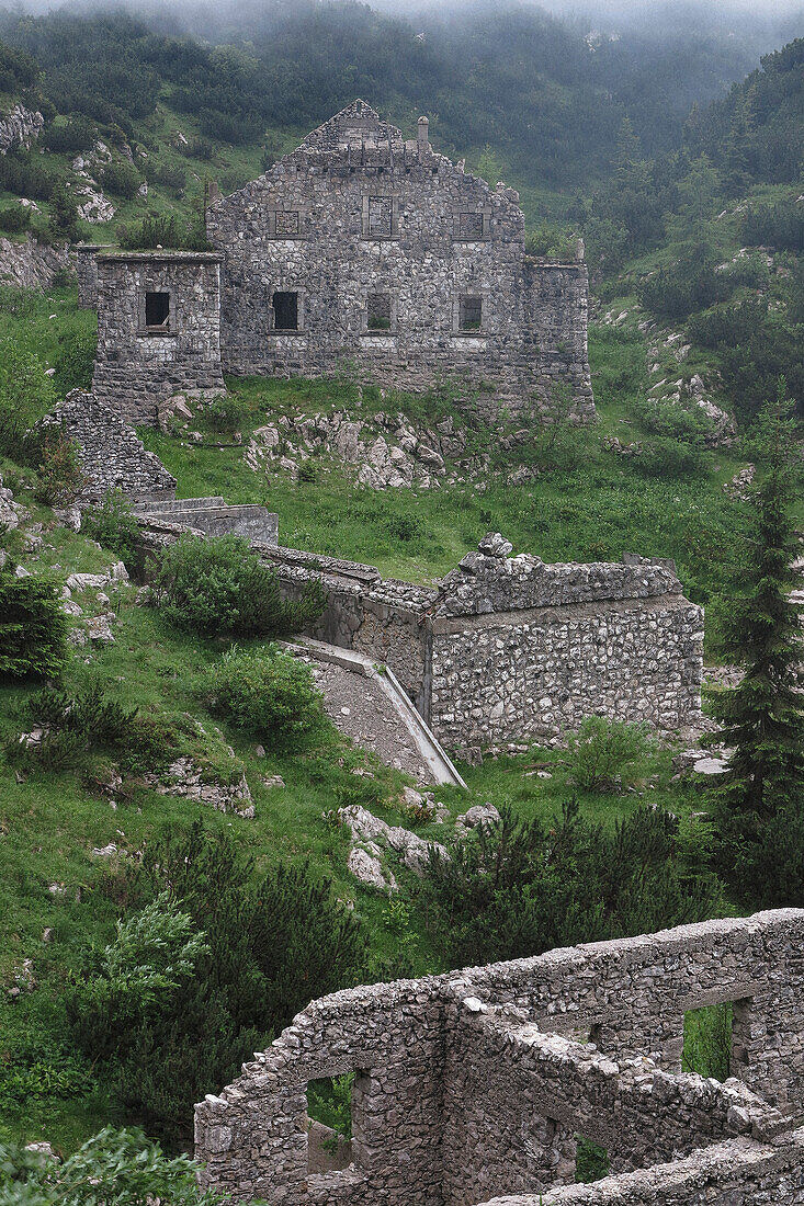
<instances>
[{"instance_id":1,"label":"large gabled stone ruin including its flat-topped side annexes","mask_svg":"<svg viewBox=\"0 0 804 1206\"><path fill-rule=\"evenodd\" d=\"M93 392L135 423L223 373L348 371L523 418L594 416L588 276L525 253L512 188L496 187L356 100L206 211L210 252L78 248L98 305Z\"/></svg>"}]
</instances>

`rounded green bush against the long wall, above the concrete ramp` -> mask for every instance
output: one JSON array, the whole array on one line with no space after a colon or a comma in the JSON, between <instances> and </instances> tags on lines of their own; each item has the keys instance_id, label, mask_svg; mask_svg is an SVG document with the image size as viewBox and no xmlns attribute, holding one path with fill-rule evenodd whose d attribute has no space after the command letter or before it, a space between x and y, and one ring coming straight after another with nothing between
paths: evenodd
<instances>
[{"instance_id":1,"label":"rounded green bush against the long wall, above the concrete ramp","mask_svg":"<svg viewBox=\"0 0 804 1206\"><path fill-rule=\"evenodd\" d=\"M177 627L203 636L298 632L324 605L313 587L285 602L274 572L237 535L182 535L157 562L153 599Z\"/></svg>"}]
</instances>

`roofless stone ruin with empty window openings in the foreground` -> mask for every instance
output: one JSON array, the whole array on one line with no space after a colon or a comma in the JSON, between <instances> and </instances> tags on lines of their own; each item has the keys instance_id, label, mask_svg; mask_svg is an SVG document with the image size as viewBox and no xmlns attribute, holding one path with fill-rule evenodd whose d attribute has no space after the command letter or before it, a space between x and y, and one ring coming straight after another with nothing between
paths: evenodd
<instances>
[{"instance_id":1,"label":"roofless stone ruin with empty window openings in the foreground","mask_svg":"<svg viewBox=\"0 0 804 1206\"><path fill-rule=\"evenodd\" d=\"M721 1002L732 1077L682 1075L684 1014ZM351 1164L314 1172L307 1085L345 1072ZM314 1001L196 1107L196 1154L272 1206L794 1206L803 1106L804 911L782 909ZM578 1137L605 1179L573 1184Z\"/></svg>"}]
</instances>

